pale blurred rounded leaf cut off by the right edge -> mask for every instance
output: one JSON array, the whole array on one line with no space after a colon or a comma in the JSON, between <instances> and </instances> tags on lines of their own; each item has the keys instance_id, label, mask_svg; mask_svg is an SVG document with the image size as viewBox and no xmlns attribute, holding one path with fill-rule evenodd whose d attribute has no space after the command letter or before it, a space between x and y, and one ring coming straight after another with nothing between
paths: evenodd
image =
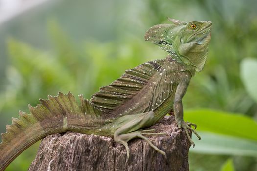
<instances>
[{"instance_id":1,"label":"pale blurred rounded leaf cut off by the right edge","mask_svg":"<svg viewBox=\"0 0 257 171\"><path fill-rule=\"evenodd\" d=\"M257 102L257 60L245 58L240 75L248 94Z\"/></svg>"}]
</instances>

